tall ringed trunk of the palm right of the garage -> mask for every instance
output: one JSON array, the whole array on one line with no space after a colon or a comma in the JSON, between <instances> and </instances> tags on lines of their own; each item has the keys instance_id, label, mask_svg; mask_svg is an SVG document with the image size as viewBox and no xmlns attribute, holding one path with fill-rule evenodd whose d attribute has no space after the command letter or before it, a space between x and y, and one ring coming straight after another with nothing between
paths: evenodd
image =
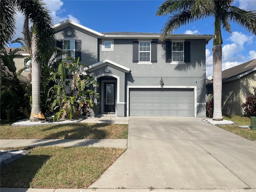
<instances>
[{"instance_id":1,"label":"tall ringed trunk of the palm right of the garage","mask_svg":"<svg viewBox=\"0 0 256 192\"><path fill-rule=\"evenodd\" d=\"M213 40L213 97L214 110L213 120L222 120L222 36L221 22L218 12L215 14L214 23L214 40Z\"/></svg>"}]
</instances>

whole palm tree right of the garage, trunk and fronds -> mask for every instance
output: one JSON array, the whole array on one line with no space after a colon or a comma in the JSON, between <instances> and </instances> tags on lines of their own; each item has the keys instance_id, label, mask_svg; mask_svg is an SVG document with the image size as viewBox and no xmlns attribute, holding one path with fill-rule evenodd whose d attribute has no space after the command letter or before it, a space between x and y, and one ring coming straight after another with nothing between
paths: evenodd
<instances>
[{"instance_id":1,"label":"whole palm tree right of the garage, trunk and fronds","mask_svg":"<svg viewBox=\"0 0 256 192\"><path fill-rule=\"evenodd\" d=\"M214 17L213 40L213 120L222 120L222 37L221 27L231 32L229 20L238 23L249 32L256 34L256 11L242 10L232 6L234 0L166 0L158 7L157 16L172 14L166 22L161 40L180 26L189 22Z\"/></svg>"}]
</instances>

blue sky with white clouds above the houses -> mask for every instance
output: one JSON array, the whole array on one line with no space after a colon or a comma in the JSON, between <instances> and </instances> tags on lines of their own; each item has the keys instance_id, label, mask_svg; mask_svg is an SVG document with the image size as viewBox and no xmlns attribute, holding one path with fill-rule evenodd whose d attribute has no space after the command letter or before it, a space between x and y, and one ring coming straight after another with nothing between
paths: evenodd
<instances>
[{"instance_id":1,"label":"blue sky with white clouds above the houses","mask_svg":"<svg viewBox=\"0 0 256 192\"><path fill-rule=\"evenodd\" d=\"M98 32L161 32L168 16L156 16L163 0L44 0L54 24L70 19ZM256 0L236 0L235 6L256 10ZM192 22L174 34L214 34L214 19ZM256 58L256 36L230 23L222 30L222 70ZM23 17L18 15L15 38L21 37ZM12 44L11 47L16 47ZM212 40L206 46L206 77L212 74Z\"/></svg>"}]
</instances>

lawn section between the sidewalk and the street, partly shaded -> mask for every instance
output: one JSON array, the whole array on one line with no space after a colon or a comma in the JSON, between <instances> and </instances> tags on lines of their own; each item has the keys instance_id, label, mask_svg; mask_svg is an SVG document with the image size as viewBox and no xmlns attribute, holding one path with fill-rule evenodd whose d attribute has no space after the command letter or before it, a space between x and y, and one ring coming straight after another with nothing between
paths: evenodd
<instances>
[{"instance_id":1,"label":"lawn section between the sidewalk and the street, partly shaded","mask_svg":"<svg viewBox=\"0 0 256 192\"><path fill-rule=\"evenodd\" d=\"M126 149L35 147L26 150L30 150L28 155L1 168L0 187L88 188Z\"/></svg>"}]
</instances>

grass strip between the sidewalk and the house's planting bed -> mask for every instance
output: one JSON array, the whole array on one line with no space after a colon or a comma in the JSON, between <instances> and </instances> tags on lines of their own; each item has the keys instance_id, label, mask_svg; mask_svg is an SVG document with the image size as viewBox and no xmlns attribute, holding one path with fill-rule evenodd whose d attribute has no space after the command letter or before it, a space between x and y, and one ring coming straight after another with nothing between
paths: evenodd
<instances>
[{"instance_id":1,"label":"grass strip between the sidewalk and the house's planting bed","mask_svg":"<svg viewBox=\"0 0 256 192\"><path fill-rule=\"evenodd\" d=\"M69 123L43 126L11 126L2 123L0 139L125 139L128 124Z\"/></svg>"}]
</instances>

